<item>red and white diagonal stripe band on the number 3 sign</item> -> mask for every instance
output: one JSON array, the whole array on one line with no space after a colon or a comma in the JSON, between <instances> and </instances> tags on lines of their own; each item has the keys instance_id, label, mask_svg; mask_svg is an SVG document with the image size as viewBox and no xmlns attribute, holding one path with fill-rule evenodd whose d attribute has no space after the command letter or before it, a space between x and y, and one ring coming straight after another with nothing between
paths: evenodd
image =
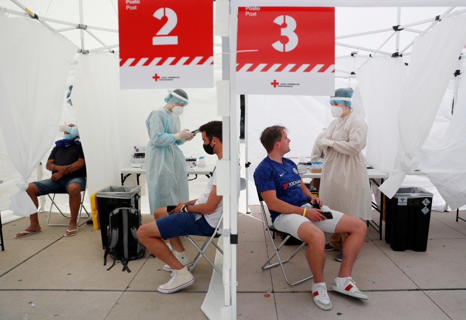
<instances>
[{"instance_id":1,"label":"red and white diagonal stripe band on the number 3 sign","mask_svg":"<svg viewBox=\"0 0 466 320\"><path fill-rule=\"evenodd\" d=\"M334 64L236 64L236 72L335 72Z\"/></svg>"}]
</instances>

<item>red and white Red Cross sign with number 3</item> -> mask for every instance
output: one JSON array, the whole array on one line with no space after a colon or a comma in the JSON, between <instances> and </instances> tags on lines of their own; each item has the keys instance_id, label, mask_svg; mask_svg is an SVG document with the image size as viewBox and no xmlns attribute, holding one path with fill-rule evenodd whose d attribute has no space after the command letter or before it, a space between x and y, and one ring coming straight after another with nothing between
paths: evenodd
<instances>
[{"instance_id":1,"label":"red and white Red Cross sign with number 3","mask_svg":"<svg viewBox=\"0 0 466 320\"><path fill-rule=\"evenodd\" d=\"M334 8L240 7L236 93L329 95Z\"/></svg>"}]
</instances>

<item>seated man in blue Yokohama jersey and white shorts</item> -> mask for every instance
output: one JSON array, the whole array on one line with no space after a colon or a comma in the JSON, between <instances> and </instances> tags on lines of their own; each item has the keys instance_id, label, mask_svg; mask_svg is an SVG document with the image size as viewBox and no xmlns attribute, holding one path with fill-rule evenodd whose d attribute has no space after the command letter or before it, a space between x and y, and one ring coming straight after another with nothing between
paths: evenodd
<instances>
[{"instance_id":1,"label":"seated man in blue Yokohama jersey and white shorts","mask_svg":"<svg viewBox=\"0 0 466 320\"><path fill-rule=\"evenodd\" d=\"M332 303L327 293L323 276L325 264L325 236L323 232L348 233L343 247L343 261L332 289L367 300L351 279L351 270L366 237L366 224L359 219L331 210L323 206L319 198L313 197L298 174L296 164L283 156L290 151L290 139L283 126L266 128L260 137L266 148L267 157L261 161L254 172L257 190L267 204L275 228L286 232L307 243L306 259L314 274L312 294L316 305L330 310ZM331 211L333 219L326 219L312 207L318 203L325 211Z\"/></svg>"}]
</instances>

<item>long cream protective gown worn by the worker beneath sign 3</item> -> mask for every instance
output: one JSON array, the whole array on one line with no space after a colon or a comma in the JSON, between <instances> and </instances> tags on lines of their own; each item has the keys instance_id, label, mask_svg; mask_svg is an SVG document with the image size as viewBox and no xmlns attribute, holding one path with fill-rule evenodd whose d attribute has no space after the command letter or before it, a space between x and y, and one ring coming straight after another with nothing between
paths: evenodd
<instances>
[{"instance_id":1,"label":"long cream protective gown worn by the worker beneath sign 3","mask_svg":"<svg viewBox=\"0 0 466 320\"><path fill-rule=\"evenodd\" d=\"M325 153L319 198L334 210L372 220L369 176L361 153L367 140L364 119L354 113L336 118L323 137L334 143Z\"/></svg>"}]
</instances>

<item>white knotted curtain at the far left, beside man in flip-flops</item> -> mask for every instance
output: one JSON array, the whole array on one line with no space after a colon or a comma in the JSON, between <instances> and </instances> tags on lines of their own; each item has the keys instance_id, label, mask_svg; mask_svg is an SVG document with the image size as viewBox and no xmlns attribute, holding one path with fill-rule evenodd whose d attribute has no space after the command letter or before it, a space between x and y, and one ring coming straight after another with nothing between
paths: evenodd
<instances>
[{"instance_id":1,"label":"white knotted curtain at the far left, beside man in flip-flops","mask_svg":"<svg viewBox=\"0 0 466 320\"><path fill-rule=\"evenodd\" d=\"M0 30L0 125L8 156L21 175L10 210L29 216L37 208L25 192L27 180L53 144L77 48L27 18L0 14Z\"/></svg>"}]
</instances>

